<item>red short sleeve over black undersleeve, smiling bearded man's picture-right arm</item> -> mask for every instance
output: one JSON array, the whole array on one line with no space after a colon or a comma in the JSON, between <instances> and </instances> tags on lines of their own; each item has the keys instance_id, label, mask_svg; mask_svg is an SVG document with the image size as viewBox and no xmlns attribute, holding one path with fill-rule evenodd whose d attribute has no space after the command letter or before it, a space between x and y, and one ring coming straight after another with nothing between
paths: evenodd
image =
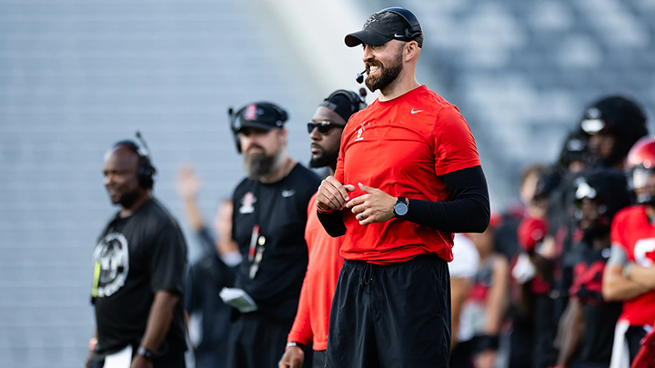
<instances>
[{"instance_id":1,"label":"red short sleeve over black undersleeve, smiling bearded man's picture-right arm","mask_svg":"<svg viewBox=\"0 0 655 368\"><path fill-rule=\"evenodd\" d=\"M433 131L435 174L479 166L478 147L464 116L455 106L441 109Z\"/></svg>"}]
</instances>

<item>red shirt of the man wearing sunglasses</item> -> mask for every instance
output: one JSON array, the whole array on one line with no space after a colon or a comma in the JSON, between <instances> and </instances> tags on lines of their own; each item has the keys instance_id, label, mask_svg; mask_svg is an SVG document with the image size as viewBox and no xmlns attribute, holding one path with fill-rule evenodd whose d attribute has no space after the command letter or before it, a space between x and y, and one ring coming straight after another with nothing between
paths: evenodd
<instances>
[{"instance_id":1,"label":"red shirt of the man wearing sunglasses","mask_svg":"<svg viewBox=\"0 0 655 368\"><path fill-rule=\"evenodd\" d=\"M333 238L318 220L316 194L309 200L305 240L309 251L307 274L300 291L300 302L288 342L307 345L312 349L328 348L329 312L337 288L338 275L344 259L339 255L343 236Z\"/></svg>"}]
</instances>

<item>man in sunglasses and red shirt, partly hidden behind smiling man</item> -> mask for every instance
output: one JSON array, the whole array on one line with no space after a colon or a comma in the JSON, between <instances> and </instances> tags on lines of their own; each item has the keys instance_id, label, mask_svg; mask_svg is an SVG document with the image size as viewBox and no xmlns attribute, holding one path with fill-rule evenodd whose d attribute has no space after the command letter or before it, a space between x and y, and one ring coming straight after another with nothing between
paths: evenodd
<instances>
[{"instance_id":1,"label":"man in sunglasses and red shirt, partly hidden behind smiling man","mask_svg":"<svg viewBox=\"0 0 655 368\"><path fill-rule=\"evenodd\" d=\"M364 107L366 104L358 94L342 89L330 94L318 106L312 122L307 123L307 133L311 134L312 140L309 167L328 167L330 174L334 174L343 128L350 116ZM279 368L300 368L305 360L303 347L310 342L314 350L312 366L325 366L330 305L344 263L339 254L343 236L333 238L323 229L317 217L316 194L309 200L307 208L305 240L309 250L307 274L300 292L296 320L288 334L287 352L282 356Z\"/></svg>"}]
</instances>

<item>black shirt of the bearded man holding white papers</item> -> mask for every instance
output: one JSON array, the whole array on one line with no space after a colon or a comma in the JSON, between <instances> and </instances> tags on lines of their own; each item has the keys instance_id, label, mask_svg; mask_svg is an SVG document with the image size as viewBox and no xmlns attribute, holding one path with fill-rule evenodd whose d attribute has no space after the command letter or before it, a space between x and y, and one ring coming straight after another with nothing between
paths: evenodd
<instances>
[{"instance_id":1,"label":"black shirt of the bearded man holding white papers","mask_svg":"<svg viewBox=\"0 0 655 368\"><path fill-rule=\"evenodd\" d=\"M244 257L237 266L236 286L255 300L259 312L277 321L296 316L307 271L307 204L319 184L316 174L297 164L277 183L245 179L232 198L232 237ZM257 274L251 279L253 262L248 259L248 250L256 224L266 242Z\"/></svg>"}]
</instances>

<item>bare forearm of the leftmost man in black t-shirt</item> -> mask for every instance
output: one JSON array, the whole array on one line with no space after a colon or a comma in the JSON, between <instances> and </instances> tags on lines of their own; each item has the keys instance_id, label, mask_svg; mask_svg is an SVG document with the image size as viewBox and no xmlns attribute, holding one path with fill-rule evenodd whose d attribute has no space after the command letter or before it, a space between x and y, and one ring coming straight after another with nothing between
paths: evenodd
<instances>
[{"instance_id":1,"label":"bare forearm of the leftmost man in black t-shirt","mask_svg":"<svg viewBox=\"0 0 655 368\"><path fill-rule=\"evenodd\" d=\"M155 293L155 301L150 307L146 334L141 341L141 346L155 352L159 349L173 321L173 311L178 300L179 296L175 293L167 291Z\"/></svg>"}]
</instances>

